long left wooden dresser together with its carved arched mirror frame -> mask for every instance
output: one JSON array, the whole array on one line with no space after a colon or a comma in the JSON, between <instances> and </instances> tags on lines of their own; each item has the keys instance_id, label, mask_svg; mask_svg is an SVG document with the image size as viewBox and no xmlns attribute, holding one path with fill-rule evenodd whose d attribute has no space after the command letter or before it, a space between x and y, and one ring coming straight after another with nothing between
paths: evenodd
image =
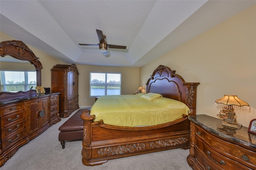
<instances>
[{"instance_id":1,"label":"long left wooden dresser together with its carved arched mirror frame","mask_svg":"<svg viewBox=\"0 0 256 170\"><path fill-rule=\"evenodd\" d=\"M0 56L8 57L17 63L20 61L13 59L27 61L34 65L36 79L33 81L36 81L36 86L42 85L42 63L22 41L0 42ZM17 65L9 66L10 70L23 70L22 67L17 68ZM52 94L38 94L36 90L23 89L22 91L19 88L15 90L18 92L12 91L7 86L1 87L0 90L0 167L17 152L20 146L28 143L52 124L61 121L60 91Z\"/></svg>"}]
</instances>

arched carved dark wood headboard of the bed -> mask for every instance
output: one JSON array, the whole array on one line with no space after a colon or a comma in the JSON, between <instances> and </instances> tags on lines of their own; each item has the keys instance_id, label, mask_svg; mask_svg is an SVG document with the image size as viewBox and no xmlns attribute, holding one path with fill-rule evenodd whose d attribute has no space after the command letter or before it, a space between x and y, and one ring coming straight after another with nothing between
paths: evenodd
<instances>
[{"instance_id":1,"label":"arched carved dark wood headboard of the bed","mask_svg":"<svg viewBox=\"0 0 256 170\"><path fill-rule=\"evenodd\" d=\"M196 115L196 89L200 83L186 83L175 72L169 67L159 65L148 79L146 91L181 101L188 105L192 115Z\"/></svg>"}]
</instances>

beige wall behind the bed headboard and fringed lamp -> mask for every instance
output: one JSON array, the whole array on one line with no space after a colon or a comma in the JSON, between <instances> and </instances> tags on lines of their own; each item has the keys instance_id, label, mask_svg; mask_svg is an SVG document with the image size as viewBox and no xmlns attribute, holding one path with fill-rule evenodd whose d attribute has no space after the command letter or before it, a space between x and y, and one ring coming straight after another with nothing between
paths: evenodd
<instances>
[{"instance_id":1,"label":"beige wall behind the bed headboard and fringed lamp","mask_svg":"<svg viewBox=\"0 0 256 170\"><path fill-rule=\"evenodd\" d=\"M238 123L248 127L256 118L256 6L180 45L140 68L140 84L158 65L166 65L186 82L200 82L197 114L212 117L221 110L214 101L237 95L250 110L235 110Z\"/></svg>"}]
</instances>

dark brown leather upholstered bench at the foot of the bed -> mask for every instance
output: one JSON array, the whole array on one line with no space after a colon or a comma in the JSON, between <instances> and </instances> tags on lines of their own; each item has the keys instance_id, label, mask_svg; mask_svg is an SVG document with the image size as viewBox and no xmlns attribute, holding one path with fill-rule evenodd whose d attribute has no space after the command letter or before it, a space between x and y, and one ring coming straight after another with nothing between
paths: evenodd
<instances>
[{"instance_id":1,"label":"dark brown leather upholstered bench at the foot of the bed","mask_svg":"<svg viewBox=\"0 0 256 170\"><path fill-rule=\"evenodd\" d=\"M79 140L83 138L84 122L81 119L81 115L84 110L90 109L80 109L60 126L59 141L63 149L65 148L65 140Z\"/></svg>"}]
</instances>

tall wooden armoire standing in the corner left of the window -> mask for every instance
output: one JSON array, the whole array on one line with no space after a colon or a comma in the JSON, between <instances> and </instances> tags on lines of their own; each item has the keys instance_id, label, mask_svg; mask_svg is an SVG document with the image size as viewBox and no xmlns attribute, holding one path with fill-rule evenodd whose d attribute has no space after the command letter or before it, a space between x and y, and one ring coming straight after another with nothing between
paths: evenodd
<instances>
[{"instance_id":1,"label":"tall wooden armoire standing in the corner left of the window","mask_svg":"<svg viewBox=\"0 0 256 170\"><path fill-rule=\"evenodd\" d=\"M75 64L57 64L52 68L52 93L60 92L60 117L79 109L78 69Z\"/></svg>"}]
</instances>

